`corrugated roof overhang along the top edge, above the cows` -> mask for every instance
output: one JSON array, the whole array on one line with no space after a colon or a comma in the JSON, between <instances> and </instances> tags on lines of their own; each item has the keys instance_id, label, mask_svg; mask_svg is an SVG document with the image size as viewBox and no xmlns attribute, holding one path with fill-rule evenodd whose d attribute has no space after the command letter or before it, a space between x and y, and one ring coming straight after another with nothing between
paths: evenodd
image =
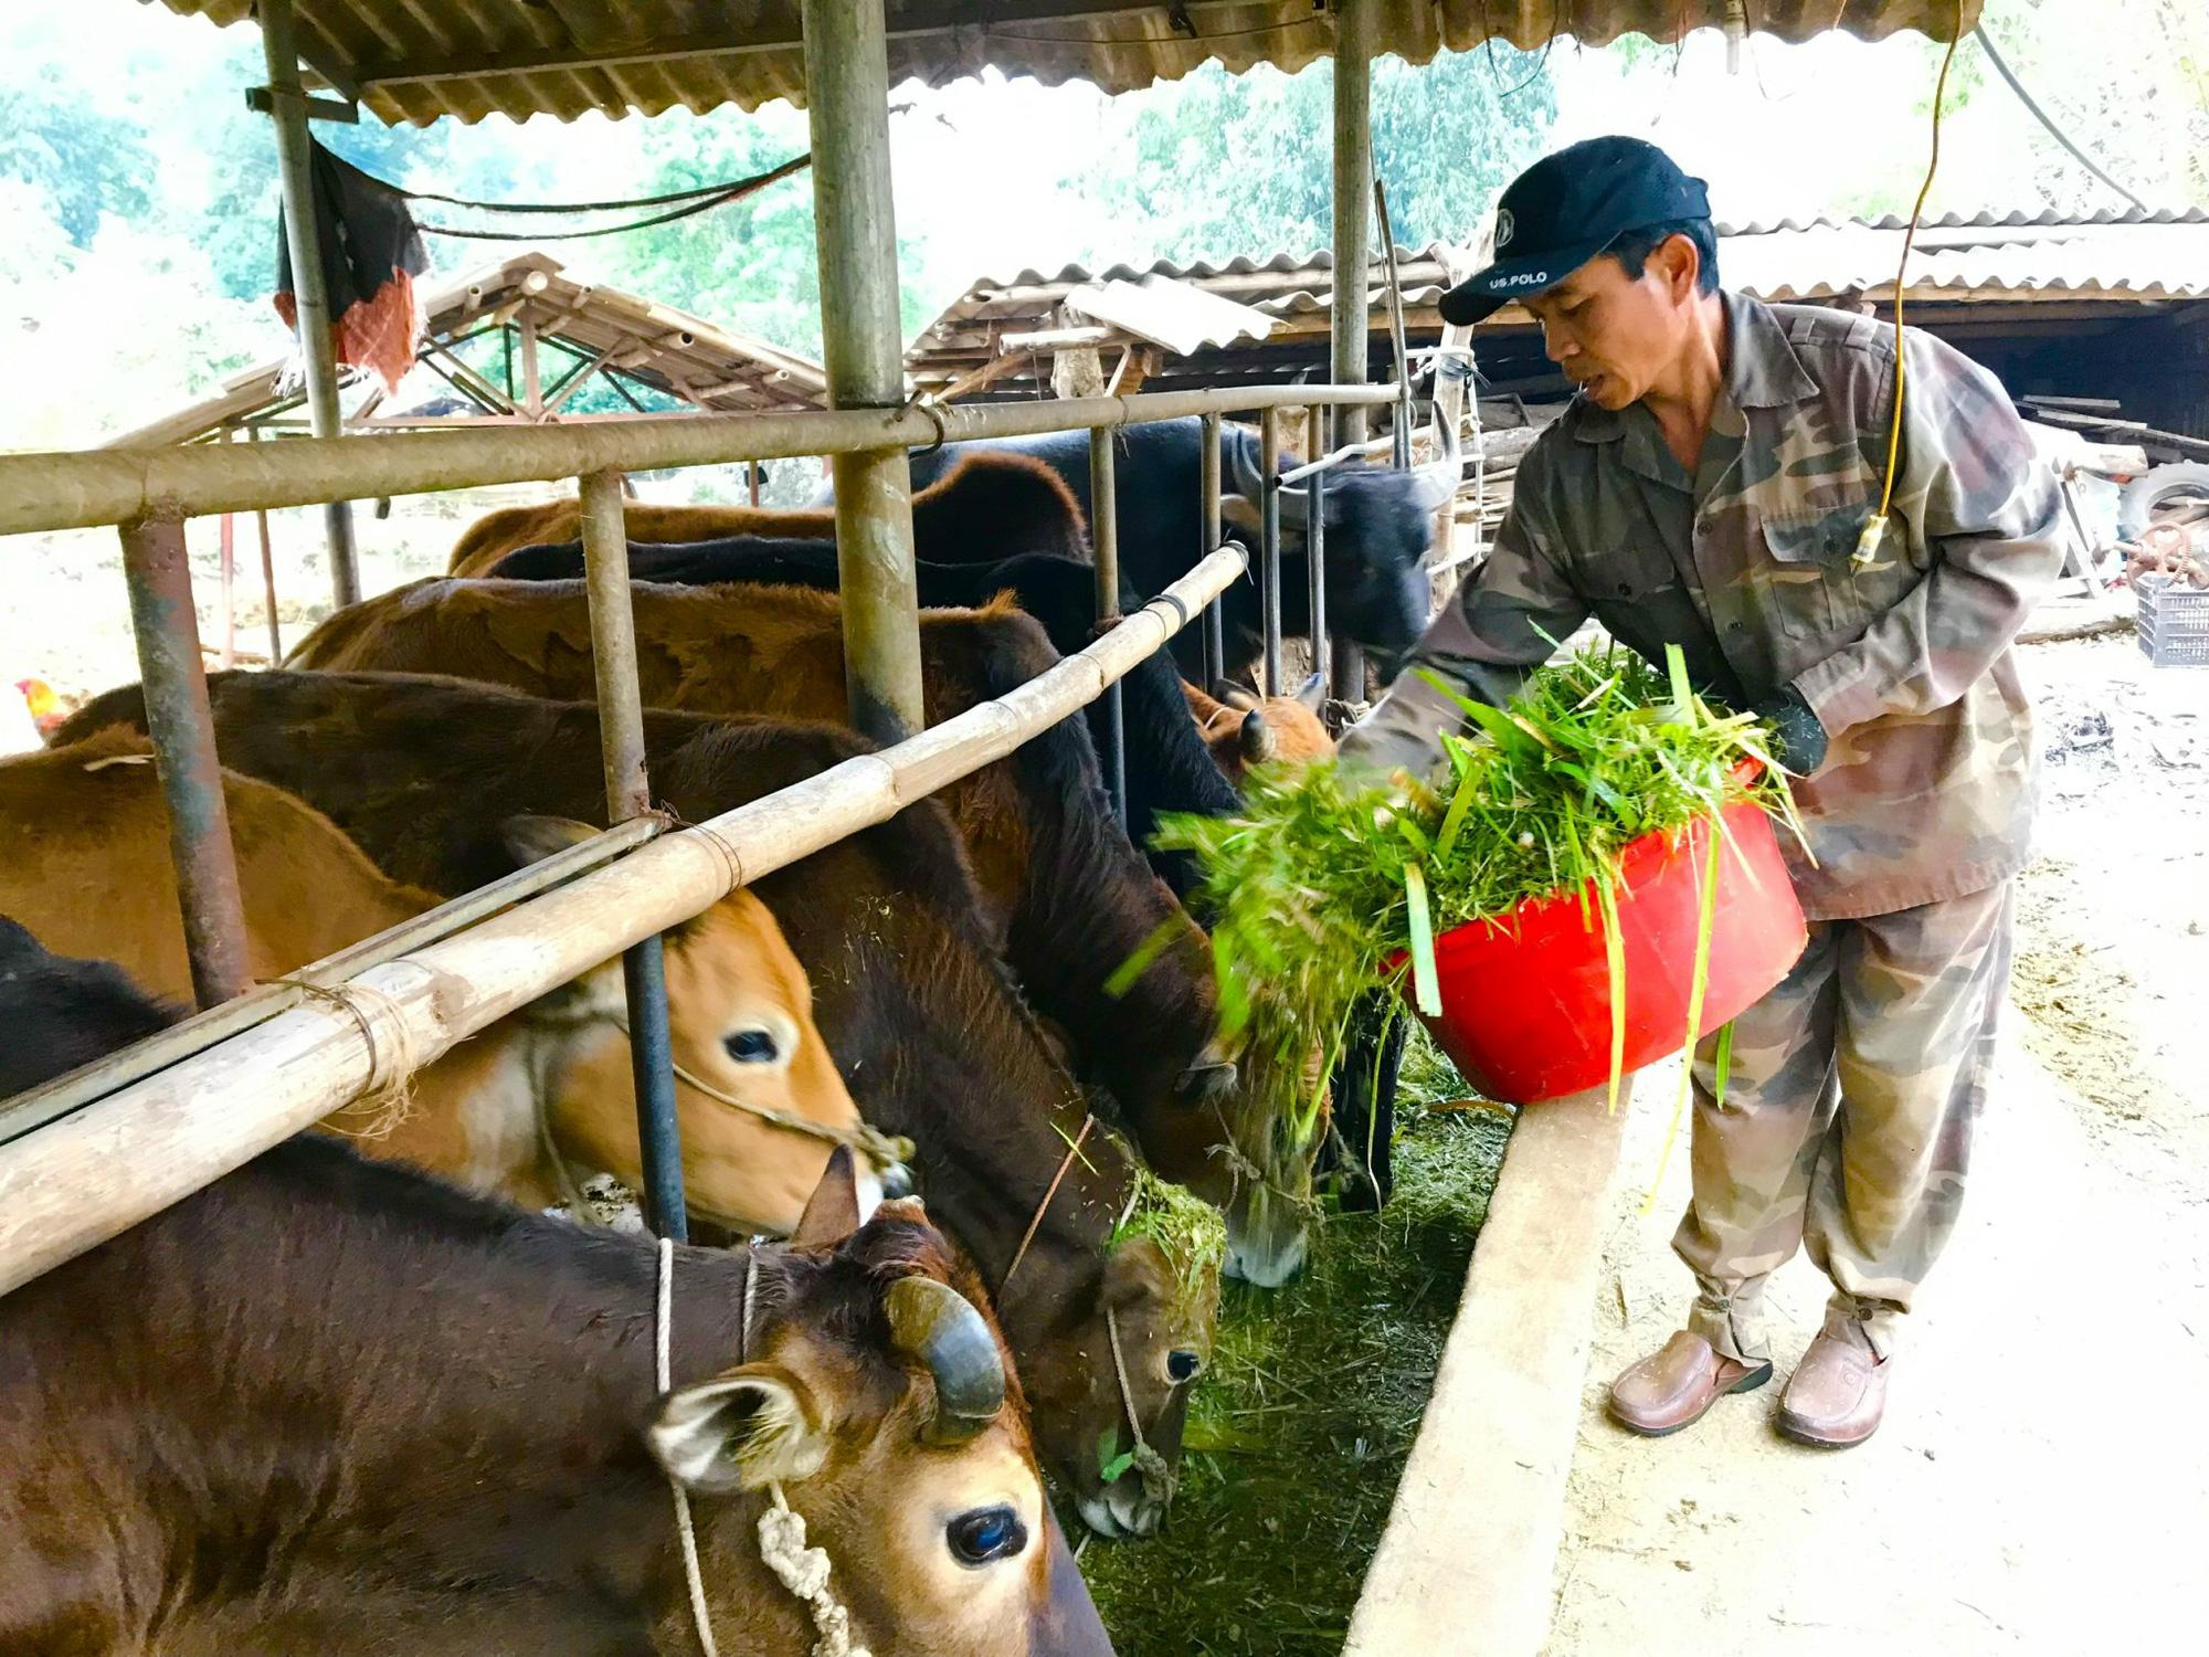
<instances>
[{"instance_id":1,"label":"corrugated roof overhang along the top edge, above the cows","mask_svg":"<svg viewBox=\"0 0 2209 1657\"><path fill-rule=\"evenodd\" d=\"M219 24L252 0L161 0ZM1721 27L1725 0L1370 0L1376 46L1425 64L1484 40L1540 46L1553 35L1606 44L1624 33L1677 40ZM676 106L804 102L797 0L296 0L300 55L384 122L583 110L658 115ZM1917 29L1940 40L1955 0L1758 0L1758 31L1805 40L1845 29L1878 40ZM1964 27L1979 0L1964 0ZM1230 71L1303 68L1334 51L1314 0L888 0L890 80L939 86L985 66L1109 93L1180 80L1211 57Z\"/></svg>"}]
</instances>

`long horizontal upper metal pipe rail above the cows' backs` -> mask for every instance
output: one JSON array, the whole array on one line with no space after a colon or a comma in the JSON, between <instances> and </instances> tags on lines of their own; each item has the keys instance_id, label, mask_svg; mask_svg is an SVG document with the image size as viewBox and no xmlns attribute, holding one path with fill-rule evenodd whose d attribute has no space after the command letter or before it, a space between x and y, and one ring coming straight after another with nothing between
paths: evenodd
<instances>
[{"instance_id":1,"label":"long horizontal upper metal pipe rail above the cows' backs","mask_svg":"<svg viewBox=\"0 0 2209 1657\"><path fill-rule=\"evenodd\" d=\"M373 499L488 484L566 482L610 466L627 473L722 466L881 446L919 448L937 440L1129 426L1283 404L1376 407L1392 398L1387 387L1248 387L952 409L797 409L596 426L395 431L376 442L287 437L274 444L22 453L0 455L0 535L99 528L155 515L214 517L316 506L336 495Z\"/></svg>"}]
</instances>

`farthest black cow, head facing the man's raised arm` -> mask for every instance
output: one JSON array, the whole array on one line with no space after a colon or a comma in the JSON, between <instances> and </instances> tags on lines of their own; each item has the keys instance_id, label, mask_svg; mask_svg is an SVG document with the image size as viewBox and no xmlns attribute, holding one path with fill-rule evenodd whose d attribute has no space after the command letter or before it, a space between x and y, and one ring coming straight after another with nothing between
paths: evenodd
<instances>
[{"instance_id":1,"label":"farthest black cow, head facing the man's raised arm","mask_svg":"<svg viewBox=\"0 0 2209 1657\"><path fill-rule=\"evenodd\" d=\"M1155 420L1113 435L1118 479L1120 572L1144 597L1188 574L1204 557L1202 493L1204 422ZM1067 479L1091 513L1089 433L1051 431L1036 437L979 440L923 451L912 457L912 484L926 486L974 448L1014 448L1034 455ZM1246 426L1224 426L1219 437L1219 508L1233 539L1257 548L1261 510L1259 442ZM1434 513L1454 490L1449 468L1401 473L1345 464L1328 473L1328 625L1356 641L1392 669L1427 627L1431 588L1427 552ZM1281 493L1281 630L1308 634L1310 577L1303 524L1310 495ZM1255 568L1255 563L1253 563ZM1222 597L1230 665L1248 663L1261 645L1255 581L1237 581ZM1195 676L1202 638L1188 627L1175 656Z\"/></svg>"}]
</instances>

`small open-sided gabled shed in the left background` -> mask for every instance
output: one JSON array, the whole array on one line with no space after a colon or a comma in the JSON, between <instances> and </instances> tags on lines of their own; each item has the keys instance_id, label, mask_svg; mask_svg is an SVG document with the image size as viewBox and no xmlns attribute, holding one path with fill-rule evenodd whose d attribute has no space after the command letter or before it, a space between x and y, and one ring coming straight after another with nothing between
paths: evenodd
<instances>
[{"instance_id":1,"label":"small open-sided gabled shed in the left background","mask_svg":"<svg viewBox=\"0 0 2209 1657\"><path fill-rule=\"evenodd\" d=\"M473 349L468 349L473 347ZM473 358L471 360L464 360ZM599 387L621 407L581 413ZM415 371L387 391L362 373L340 384L347 433L437 426L535 426L643 413L824 409L817 362L702 316L581 281L543 252L512 254L422 298ZM596 398L601 404L605 395ZM307 391L285 362L263 362L183 409L108 442L225 442L300 433Z\"/></svg>"}]
</instances>

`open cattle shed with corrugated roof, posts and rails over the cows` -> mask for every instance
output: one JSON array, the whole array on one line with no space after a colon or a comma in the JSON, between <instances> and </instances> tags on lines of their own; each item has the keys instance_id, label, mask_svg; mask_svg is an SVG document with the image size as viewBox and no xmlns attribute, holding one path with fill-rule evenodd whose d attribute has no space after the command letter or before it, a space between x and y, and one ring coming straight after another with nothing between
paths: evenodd
<instances>
[{"instance_id":1,"label":"open cattle shed with corrugated roof, posts and rails over the cows","mask_svg":"<svg viewBox=\"0 0 2209 1657\"><path fill-rule=\"evenodd\" d=\"M497 1019L623 959L643 1206L667 1237L685 1233L674 1138L660 939L729 890L886 822L915 800L1018 749L1111 696L1244 572L1222 546L1142 610L1116 616L1118 552L1096 537L1102 630L998 700L928 727L921 703L908 451L945 440L1091 433L1096 490L1111 493L1111 431L1122 424L1257 411L1268 457L1281 409L1328 409L1330 442L1365 435L1365 411L1396 389L1370 382L1370 320L1330 316L1323 382L1248 384L926 407L908 395L897 325L888 88L985 66L1040 80L1085 77L1107 91L1182 75L1208 57L1286 68L1332 55L1334 243L1341 270L1370 267L1370 62L1412 62L1484 40L1540 46L1557 33L1608 42L1626 31L1674 40L1688 29L1756 27L1787 40L1827 29L1878 38L1917 29L1948 38L1975 0L161 0L214 24L254 18L285 188L311 435L287 442L166 442L93 453L0 455L0 535L115 526L133 601L146 727L170 820L183 935L203 1012L38 1094L0 1107L0 1292L113 1239L261 1151L426 1065ZM687 413L603 422L479 418L457 429L345 429L320 292L309 192L311 119L367 110L387 122L475 122L493 113L561 119L674 106L742 108L773 97L811 113L824 318L820 409ZM1317 334L1317 329L1314 329ZM594 351L605 349L603 345ZM1217 453L1211 448L1208 453ZM879 751L696 824L652 811L636 634L627 588L623 477L636 471L831 455L850 725ZM1217 473L1217 464L1206 468ZM444 904L281 983L254 988L230 824L214 756L183 519L323 504L340 601L358 597L345 502L384 495L574 479L583 502L585 588L603 745L605 820L614 826L546 864ZM1279 484L1275 484L1279 486ZM1219 479L1204 484L1217 526ZM1279 550L1268 510L1261 568ZM1109 513L1098 515L1111 524ZM1317 632L1317 627L1314 627ZM1562 1120L1562 1118L1560 1118ZM1074 1140L1074 1153L1080 1142ZM1045 1195L1045 1202L1049 1197ZM1540 1206L1540 1197L1524 1202ZM1535 1228L1540 1231L1540 1228ZM1531 1235L1531 1233L1529 1233ZM1549 1248L1560 1257L1584 1253ZM1568 1262L1566 1262L1568 1264ZM1571 1361L1571 1341L1555 1357ZM1579 1348L1584 1365L1584 1343ZM1122 1376L1122 1387L1124 1387ZM1575 1387L1555 1387L1571 1405ZM1535 1421L1540 1416L1540 1421ZM1555 1412L1529 1412L1553 1429ZM1566 1418L1564 1440L1571 1440ZM1465 1518L1462 1513L1454 1518ZM1394 1524L1392 1524L1394 1529ZM1445 1533L1440 1529L1431 1531ZM1454 1531L1451 1531L1454 1533ZM1498 1549L1495 1569L1526 1551ZM1529 1575L1522 1571L1522 1575ZM1529 1575L1533 1580L1533 1575ZM1376 1644L1401 1650L1403 1644ZM1493 1648L1493 1646L1489 1646Z\"/></svg>"}]
</instances>

